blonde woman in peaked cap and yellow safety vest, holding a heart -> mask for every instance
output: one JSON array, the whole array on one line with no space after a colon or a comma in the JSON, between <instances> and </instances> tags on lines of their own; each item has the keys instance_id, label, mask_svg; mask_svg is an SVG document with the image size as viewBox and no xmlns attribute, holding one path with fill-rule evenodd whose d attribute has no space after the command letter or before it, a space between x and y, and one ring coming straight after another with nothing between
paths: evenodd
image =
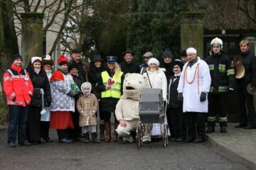
<instances>
[{"instance_id":1,"label":"blonde woman in peaked cap and yellow safety vest, holding a heart","mask_svg":"<svg viewBox=\"0 0 256 170\"><path fill-rule=\"evenodd\" d=\"M122 84L124 81L124 74L120 71L119 64L117 64L117 57L107 57L107 70L102 72L99 88L101 92L100 111L105 123L106 137L105 142L111 141L111 113L114 113L117 102L122 95ZM117 129L119 122L114 114L114 129ZM117 142L118 135L114 130L113 142Z\"/></svg>"}]
</instances>

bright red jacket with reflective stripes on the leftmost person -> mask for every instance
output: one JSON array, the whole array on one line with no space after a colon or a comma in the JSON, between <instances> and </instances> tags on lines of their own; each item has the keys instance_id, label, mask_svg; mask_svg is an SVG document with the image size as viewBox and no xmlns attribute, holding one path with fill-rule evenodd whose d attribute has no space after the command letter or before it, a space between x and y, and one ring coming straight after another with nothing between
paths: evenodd
<instances>
[{"instance_id":1,"label":"bright red jacket with reflective stripes on the leftmost person","mask_svg":"<svg viewBox=\"0 0 256 170\"><path fill-rule=\"evenodd\" d=\"M30 104L33 84L25 69L11 64L11 69L4 73L4 92L7 105L25 107Z\"/></svg>"}]
</instances>

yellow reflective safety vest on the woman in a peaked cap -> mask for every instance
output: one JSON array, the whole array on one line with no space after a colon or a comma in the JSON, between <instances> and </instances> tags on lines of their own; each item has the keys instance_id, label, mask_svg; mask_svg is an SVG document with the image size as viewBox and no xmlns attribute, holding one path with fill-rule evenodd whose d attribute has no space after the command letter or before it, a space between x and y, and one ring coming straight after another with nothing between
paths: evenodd
<instances>
[{"instance_id":1,"label":"yellow reflective safety vest on the woman in a peaked cap","mask_svg":"<svg viewBox=\"0 0 256 170\"><path fill-rule=\"evenodd\" d=\"M121 77L123 72L119 72L118 77L114 74L112 79L116 81L116 84L114 86L111 86L110 89L107 91L102 91L101 96L102 98L112 97L112 98L120 98L121 97ZM110 75L107 73L107 71L102 72L102 81L104 86L107 84L107 80L110 79Z\"/></svg>"}]
</instances>

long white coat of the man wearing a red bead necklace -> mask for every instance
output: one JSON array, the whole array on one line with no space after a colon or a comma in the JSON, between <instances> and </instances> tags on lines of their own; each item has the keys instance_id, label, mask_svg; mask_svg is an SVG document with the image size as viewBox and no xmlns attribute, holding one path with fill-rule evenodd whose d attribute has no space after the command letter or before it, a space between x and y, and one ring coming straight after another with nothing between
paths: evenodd
<instances>
[{"instance_id":1,"label":"long white coat of the man wearing a red bead necklace","mask_svg":"<svg viewBox=\"0 0 256 170\"><path fill-rule=\"evenodd\" d=\"M196 67L199 64L199 86L198 86L198 73L193 83L188 84L188 82L193 80L194 74L196 72ZM196 64L192 67L187 68L187 80L185 79L184 72L188 62L184 64L183 71L181 72L181 78L178 81L178 93L183 93L183 112L201 112L208 113L208 99L206 96L206 101L200 101L201 91L208 93L210 89L210 70L208 64L198 57Z\"/></svg>"}]
</instances>

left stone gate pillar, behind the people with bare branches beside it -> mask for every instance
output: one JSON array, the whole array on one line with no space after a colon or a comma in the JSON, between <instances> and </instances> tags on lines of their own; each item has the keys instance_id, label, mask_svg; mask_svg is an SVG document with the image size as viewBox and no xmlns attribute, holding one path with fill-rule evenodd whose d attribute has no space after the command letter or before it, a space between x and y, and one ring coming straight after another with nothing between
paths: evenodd
<instances>
[{"instance_id":1,"label":"left stone gate pillar, behind the people with bare branches beside it","mask_svg":"<svg viewBox=\"0 0 256 170\"><path fill-rule=\"evenodd\" d=\"M26 67L31 57L43 55L44 13L21 13L21 56Z\"/></svg>"}]
</instances>

